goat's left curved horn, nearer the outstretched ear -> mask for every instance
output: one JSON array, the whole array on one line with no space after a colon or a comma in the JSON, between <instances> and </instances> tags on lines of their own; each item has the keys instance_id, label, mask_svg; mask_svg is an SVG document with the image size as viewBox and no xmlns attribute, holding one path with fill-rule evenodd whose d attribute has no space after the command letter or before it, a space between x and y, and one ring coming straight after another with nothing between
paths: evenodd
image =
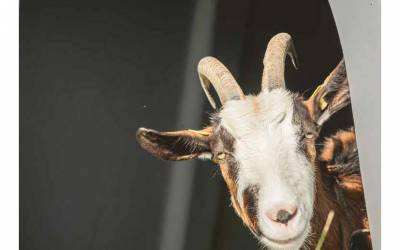
<instances>
[{"instance_id":1,"label":"goat's left curved horn, nearer the outstretched ear","mask_svg":"<svg viewBox=\"0 0 400 250\"><path fill-rule=\"evenodd\" d=\"M229 100L244 99L244 94L231 72L216 58L204 57L197 66L201 86L210 102L215 109L216 104L212 98L208 88L210 83L214 86L215 91L222 104Z\"/></svg>"}]
</instances>

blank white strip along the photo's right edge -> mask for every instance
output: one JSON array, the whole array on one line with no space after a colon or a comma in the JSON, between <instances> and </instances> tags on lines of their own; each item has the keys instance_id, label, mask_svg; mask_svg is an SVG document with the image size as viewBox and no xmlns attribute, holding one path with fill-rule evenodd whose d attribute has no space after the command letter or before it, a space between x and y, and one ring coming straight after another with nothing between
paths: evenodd
<instances>
[{"instance_id":1,"label":"blank white strip along the photo's right edge","mask_svg":"<svg viewBox=\"0 0 400 250\"><path fill-rule=\"evenodd\" d=\"M399 1L382 4L382 249L399 246Z\"/></svg>"}]
</instances>

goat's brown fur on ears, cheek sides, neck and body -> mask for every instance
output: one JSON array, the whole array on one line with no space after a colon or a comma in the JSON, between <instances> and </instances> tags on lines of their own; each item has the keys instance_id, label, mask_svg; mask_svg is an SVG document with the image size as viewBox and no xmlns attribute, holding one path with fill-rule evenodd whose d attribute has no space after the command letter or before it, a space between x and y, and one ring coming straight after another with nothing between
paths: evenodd
<instances>
[{"instance_id":1,"label":"goat's brown fur on ears, cheek sides, neck and body","mask_svg":"<svg viewBox=\"0 0 400 250\"><path fill-rule=\"evenodd\" d=\"M312 235L305 246L310 249L315 248L331 210L335 217L324 249L371 249L354 130L339 132L327 139L319 156L315 148L321 125L349 102L343 60L309 99L294 99L293 122L301 126L303 133L299 150L305 153L315 171ZM259 112L257 103L253 106L255 112ZM204 153L212 155L213 162L220 166L236 213L255 235L259 235L255 205L258 188L248 187L243 192L244 204L241 207L237 199L237 163L231 154L235 140L218 123L216 118L211 126L200 131L158 132L141 128L137 140L145 150L165 160L189 160ZM218 157L221 153L224 154L222 158Z\"/></svg>"}]
</instances>

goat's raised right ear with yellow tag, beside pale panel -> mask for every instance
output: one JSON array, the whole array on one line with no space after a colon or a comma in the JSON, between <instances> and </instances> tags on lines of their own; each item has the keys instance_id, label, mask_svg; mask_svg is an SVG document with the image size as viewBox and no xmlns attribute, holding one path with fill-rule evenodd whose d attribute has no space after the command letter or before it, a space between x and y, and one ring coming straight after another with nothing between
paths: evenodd
<instances>
[{"instance_id":1,"label":"goat's raised right ear with yellow tag, beside pale panel","mask_svg":"<svg viewBox=\"0 0 400 250\"><path fill-rule=\"evenodd\" d=\"M336 68L305 101L311 118L321 126L334 113L350 103L349 82L346 66L342 59Z\"/></svg>"}]
</instances>

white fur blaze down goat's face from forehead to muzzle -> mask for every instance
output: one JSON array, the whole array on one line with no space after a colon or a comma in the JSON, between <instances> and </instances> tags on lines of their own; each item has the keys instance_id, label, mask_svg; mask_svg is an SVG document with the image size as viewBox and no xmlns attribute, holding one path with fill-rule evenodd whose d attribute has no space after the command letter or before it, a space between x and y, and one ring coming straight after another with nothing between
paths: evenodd
<instances>
[{"instance_id":1,"label":"white fur blaze down goat's face from forehead to muzzle","mask_svg":"<svg viewBox=\"0 0 400 250\"><path fill-rule=\"evenodd\" d=\"M238 162L237 197L241 206L243 190L257 185L260 188L257 219L262 233L273 239L285 239L299 231L304 232L304 241L313 210L314 172L298 149L300 126L292 122L293 105L289 91L276 89L246 96L245 100L229 101L219 117L221 126L236 141L233 153ZM264 219L266 211L280 203L293 204L300 213L288 235L275 230ZM260 240L270 248L279 248L268 240Z\"/></svg>"}]
</instances>

